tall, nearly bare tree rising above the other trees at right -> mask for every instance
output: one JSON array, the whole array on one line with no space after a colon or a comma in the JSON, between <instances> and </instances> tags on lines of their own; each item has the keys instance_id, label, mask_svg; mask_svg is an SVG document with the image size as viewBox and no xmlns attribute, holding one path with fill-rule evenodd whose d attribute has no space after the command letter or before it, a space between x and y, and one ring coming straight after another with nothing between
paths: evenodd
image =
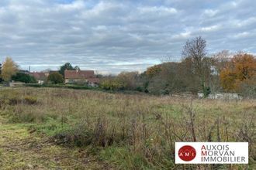
<instances>
[{"instance_id":1,"label":"tall, nearly bare tree rising above the other trees at right","mask_svg":"<svg viewBox=\"0 0 256 170\"><path fill-rule=\"evenodd\" d=\"M200 84L201 90L204 91L208 88L209 75L210 75L210 59L207 58L206 53L206 40L201 36L195 39L188 40L182 51L182 56L189 59L191 64L191 72L194 76L194 83Z\"/></svg>"}]
</instances>

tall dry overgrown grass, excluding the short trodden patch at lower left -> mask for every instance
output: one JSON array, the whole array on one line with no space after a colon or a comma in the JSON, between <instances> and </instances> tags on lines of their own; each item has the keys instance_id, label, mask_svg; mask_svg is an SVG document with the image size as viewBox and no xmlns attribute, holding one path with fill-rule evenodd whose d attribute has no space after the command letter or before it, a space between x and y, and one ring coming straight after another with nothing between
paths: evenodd
<instances>
[{"instance_id":1,"label":"tall dry overgrown grass, excluding the short trodden patch at lower left","mask_svg":"<svg viewBox=\"0 0 256 170\"><path fill-rule=\"evenodd\" d=\"M1 113L58 144L91 148L126 169L256 168L255 100L197 100L92 90L2 90ZM249 165L174 163L175 141L248 141Z\"/></svg>"}]
</instances>

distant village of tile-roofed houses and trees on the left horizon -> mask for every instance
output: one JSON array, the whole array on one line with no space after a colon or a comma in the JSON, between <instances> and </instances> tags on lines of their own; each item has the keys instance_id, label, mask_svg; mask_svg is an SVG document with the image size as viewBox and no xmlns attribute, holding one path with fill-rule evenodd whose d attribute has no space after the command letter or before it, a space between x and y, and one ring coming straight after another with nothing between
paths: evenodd
<instances>
[{"instance_id":1,"label":"distant village of tile-roofed houses and trees on the left horizon","mask_svg":"<svg viewBox=\"0 0 256 170\"><path fill-rule=\"evenodd\" d=\"M78 84L87 87L99 87L99 78L94 70L80 70L78 66L64 63L59 70L47 70L42 72L30 72L20 70L11 57L6 57L0 63L0 82L4 86L17 87L25 83L32 84Z\"/></svg>"}]
</instances>

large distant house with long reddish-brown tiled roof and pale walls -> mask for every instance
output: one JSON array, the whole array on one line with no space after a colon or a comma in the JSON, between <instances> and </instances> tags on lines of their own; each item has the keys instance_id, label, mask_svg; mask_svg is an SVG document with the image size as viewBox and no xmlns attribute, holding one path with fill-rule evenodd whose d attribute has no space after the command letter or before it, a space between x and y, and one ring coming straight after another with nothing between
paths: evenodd
<instances>
[{"instance_id":1,"label":"large distant house with long reddish-brown tiled roof and pale walls","mask_svg":"<svg viewBox=\"0 0 256 170\"><path fill-rule=\"evenodd\" d=\"M93 70L65 70L65 83L88 83L88 86L98 87L99 79Z\"/></svg>"}]
</instances>

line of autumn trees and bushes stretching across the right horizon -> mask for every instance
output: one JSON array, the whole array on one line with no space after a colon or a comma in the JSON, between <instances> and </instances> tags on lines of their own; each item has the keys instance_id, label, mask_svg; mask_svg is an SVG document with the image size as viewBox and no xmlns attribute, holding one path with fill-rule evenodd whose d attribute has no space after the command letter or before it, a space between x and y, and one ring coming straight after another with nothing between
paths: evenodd
<instances>
[{"instance_id":1,"label":"line of autumn trees and bushes stretching across the right horizon","mask_svg":"<svg viewBox=\"0 0 256 170\"><path fill-rule=\"evenodd\" d=\"M189 39L182 50L181 62L167 61L150 66L144 73L123 72L104 77L106 90L139 90L145 93L209 93L237 92L256 95L256 58L247 53L208 54L201 36Z\"/></svg>"}]
</instances>

